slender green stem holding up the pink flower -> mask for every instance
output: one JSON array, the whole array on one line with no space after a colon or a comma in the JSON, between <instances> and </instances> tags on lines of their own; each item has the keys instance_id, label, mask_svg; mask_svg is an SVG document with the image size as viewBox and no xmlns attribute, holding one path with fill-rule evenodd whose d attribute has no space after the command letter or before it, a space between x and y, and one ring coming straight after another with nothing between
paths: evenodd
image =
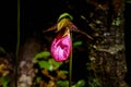
<instances>
[{"instance_id":1,"label":"slender green stem holding up the pink flower","mask_svg":"<svg viewBox=\"0 0 131 87\"><path fill-rule=\"evenodd\" d=\"M70 37L72 39L72 33L71 33ZM70 62L69 62L69 87L72 86L71 82L72 82L72 50L71 50L71 53L70 53Z\"/></svg>"}]
</instances>

